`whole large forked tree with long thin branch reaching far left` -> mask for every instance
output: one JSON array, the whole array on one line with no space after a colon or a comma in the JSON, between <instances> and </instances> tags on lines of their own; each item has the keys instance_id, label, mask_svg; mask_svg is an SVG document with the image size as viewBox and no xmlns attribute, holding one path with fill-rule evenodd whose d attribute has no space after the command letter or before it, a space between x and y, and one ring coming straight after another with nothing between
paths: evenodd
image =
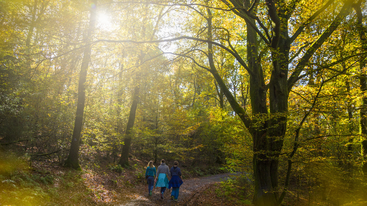
<instances>
[{"instance_id":1,"label":"whole large forked tree with long thin branch reaching far left","mask_svg":"<svg viewBox=\"0 0 367 206\"><path fill-rule=\"evenodd\" d=\"M299 0L265 0L250 1L250 0L223 0L223 5L210 4L195 4L195 6L217 9L221 11L231 11L243 20L246 24L246 34L243 41L246 42L245 55L241 54L232 46L230 35L219 38L222 41L218 43L218 38L213 39L212 29L220 29L212 25L213 15L210 10L207 14L199 9L192 7L193 5L179 4L193 8L207 21L207 38L198 38L190 36L181 36L167 40L156 41L132 41L132 40L99 40L107 42L135 42L135 43L157 43L165 41L177 41L182 39L199 41L207 43L207 51L199 50L207 56L209 67L203 65L203 62L197 62L190 52L197 51L192 49L181 54L184 57L191 59L197 66L209 71L217 81L221 91L226 96L230 106L235 113L240 117L243 124L248 128L253 140L253 171L254 171L254 199L253 202L257 206L276 206L280 205L287 191L287 186L290 178L290 170L292 165L291 158L295 154L299 143L299 129L295 131L294 148L287 153L288 157L288 173L286 185L283 192L279 195L280 187L278 185L278 169L279 157L283 149L283 141L287 129L287 112L288 112L288 95L292 87L298 80L308 75L304 74L305 67L309 60L315 54L328 37L333 34L340 23L349 14L353 0L344 2L335 2L334 0L327 1L324 5L320 5L306 20L299 25L291 25L290 19L293 13L299 10L301 2ZM298 52L291 55L291 47L296 46L296 40L305 28L308 27L323 11L329 8L334 3L336 14L330 19L330 23L323 26L323 32L311 43L301 44L298 46ZM214 7L217 6L217 7ZM222 6L222 8L220 8ZM261 7L261 8L260 8ZM260 15L269 16L268 19L261 19ZM300 11L297 11L300 12ZM297 14L300 15L300 14ZM307 15L307 14L304 14ZM297 26L297 27L296 27ZM224 29L225 30L225 29ZM226 30L228 31L228 30ZM291 32L292 31L292 32ZM302 35L301 35L302 36ZM304 36L304 35L303 35ZM225 81L215 67L213 60L213 45L224 49L233 55L241 66L247 71L250 76L250 100L251 113L247 113L243 107L237 102L236 98L229 91ZM299 44L298 44L299 45ZM305 49L303 55L301 51ZM264 51L270 51L270 62L272 69L270 77L266 79L264 75L264 61L262 60ZM293 67L290 67L292 61ZM311 71L312 72L312 71ZM309 114L309 113L308 113ZM306 115L307 116L307 115ZM306 118L305 116L305 118ZM304 119L305 119L304 118ZM303 120L304 121L304 120Z\"/></svg>"}]
</instances>

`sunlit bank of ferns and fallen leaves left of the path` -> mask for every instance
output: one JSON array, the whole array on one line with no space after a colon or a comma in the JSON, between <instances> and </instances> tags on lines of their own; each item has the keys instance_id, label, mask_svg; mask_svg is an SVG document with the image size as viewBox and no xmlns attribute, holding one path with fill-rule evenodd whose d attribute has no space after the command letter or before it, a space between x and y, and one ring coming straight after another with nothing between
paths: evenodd
<instances>
[{"instance_id":1,"label":"sunlit bank of ferns and fallen leaves left of the path","mask_svg":"<svg viewBox=\"0 0 367 206\"><path fill-rule=\"evenodd\" d=\"M122 201L121 191L145 179L138 165L89 162L81 171L51 162L32 165L26 156L0 154L0 205L105 205Z\"/></svg>"}]
</instances>

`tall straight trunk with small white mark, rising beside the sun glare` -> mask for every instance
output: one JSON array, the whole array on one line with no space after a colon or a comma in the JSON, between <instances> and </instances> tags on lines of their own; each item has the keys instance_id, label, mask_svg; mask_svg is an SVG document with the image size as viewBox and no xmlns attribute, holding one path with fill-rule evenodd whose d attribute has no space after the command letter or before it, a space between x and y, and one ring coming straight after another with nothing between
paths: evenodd
<instances>
[{"instance_id":1,"label":"tall straight trunk with small white mark, rising beside the sun glare","mask_svg":"<svg viewBox=\"0 0 367 206\"><path fill-rule=\"evenodd\" d=\"M86 80L87 80L87 73L88 73L88 65L90 60L90 52L91 52L91 42L92 33L95 27L96 21L96 7L97 0L93 0L94 6L90 8L90 21L89 27L87 32L87 41L86 47L84 48L83 52L83 60L81 62L80 67L80 74L79 74L79 84L78 84L78 103L76 108L76 115L75 115L75 124L73 130L73 136L71 139L70 145L70 152L68 158L66 159L64 165L73 169L80 168L79 165L79 142L80 142L80 135L81 129L83 126L83 114L84 114L84 103L86 100Z\"/></svg>"}]
</instances>

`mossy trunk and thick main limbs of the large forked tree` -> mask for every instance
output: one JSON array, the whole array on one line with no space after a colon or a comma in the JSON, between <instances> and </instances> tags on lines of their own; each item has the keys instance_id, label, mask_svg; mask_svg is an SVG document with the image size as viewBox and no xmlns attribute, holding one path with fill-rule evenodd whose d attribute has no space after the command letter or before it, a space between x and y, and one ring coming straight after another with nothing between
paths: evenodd
<instances>
[{"instance_id":1,"label":"mossy trunk and thick main limbs of the large forked tree","mask_svg":"<svg viewBox=\"0 0 367 206\"><path fill-rule=\"evenodd\" d=\"M246 111L239 105L216 70L213 60L212 43L208 43L208 60L210 65L210 69L208 70L218 82L218 86L221 88L221 91L223 91L233 110L237 115L239 115L244 125L246 125L252 135L255 184L253 203L256 206L278 206L283 200L285 191L287 190L286 187L289 183L289 173L291 171L292 162L292 155L289 155L289 172L287 172L286 180L288 183L284 187L282 194L279 196L279 156L283 147L283 140L287 129L288 94L295 82L298 81L299 75L304 70L306 63L315 51L320 48L324 41L326 41L326 39L334 32L342 19L349 14L349 9L353 1L349 0L344 3L344 6L335 17L334 21L326 27L319 38L306 50L305 55L300 58L294 72L289 78L288 65L290 62L289 51L291 43L307 25L306 23L300 26L292 37L288 36L288 19L295 7L293 7L293 5L287 5L287 1L281 1L277 4L273 0L265 1L268 9L268 15L273 24L273 34L270 37L269 34L264 35L259 30L255 29L257 24L254 18L257 10L256 1L251 2L250 0L245 0L240 2L237 0L229 0L231 4L227 1L224 2L232 8L243 8L232 11L243 18L247 25L247 66L238 53L236 53L234 48L230 45L229 46L232 48L232 51L235 51L232 54L250 74L252 117L249 117L246 114ZM327 8L331 2L332 1L329 1L324 5L315 13L315 15L310 17L310 19L315 18L317 14ZM208 41L212 40L211 19L212 14L210 10L208 10ZM310 21L310 19L308 21ZM267 85L265 84L264 74L261 67L261 58L259 56L259 35L262 35L261 38L265 41L272 55L273 69L269 84ZM230 44L229 41L228 44ZM269 108L267 107L268 101ZM297 143L295 145L297 145Z\"/></svg>"}]
</instances>

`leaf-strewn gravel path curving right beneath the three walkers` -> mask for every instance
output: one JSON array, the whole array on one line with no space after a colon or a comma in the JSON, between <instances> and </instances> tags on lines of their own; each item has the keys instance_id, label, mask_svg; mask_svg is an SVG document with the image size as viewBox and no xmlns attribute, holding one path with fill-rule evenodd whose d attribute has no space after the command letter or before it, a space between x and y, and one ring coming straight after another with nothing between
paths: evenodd
<instances>
[{"instance_id":1,"label":"leaf-strewn gravel path curving right beneath the three walkers","mask_svg":"<svg viewBox=\"0 0 367 206\"><path fill-rule=\"evenodd\" d=\"M207 177L197 177L185 179L179 190L178 201L171 201L171 190L164 192L164 199L160 199L160 187L153 189L153 195L148 196L148 185L145 185L144 190L139 194L132 194L131 199L126 203L120 204L119 206L148 206L148 205L159 205L159 206L179 206L186 205L185 203L190 201L192 196L195 196L195 191L206 184L219 183L227 180L231 173L216 174ZM196 194L197 195L197 194Z\"/></svg>"}]
</instances>

